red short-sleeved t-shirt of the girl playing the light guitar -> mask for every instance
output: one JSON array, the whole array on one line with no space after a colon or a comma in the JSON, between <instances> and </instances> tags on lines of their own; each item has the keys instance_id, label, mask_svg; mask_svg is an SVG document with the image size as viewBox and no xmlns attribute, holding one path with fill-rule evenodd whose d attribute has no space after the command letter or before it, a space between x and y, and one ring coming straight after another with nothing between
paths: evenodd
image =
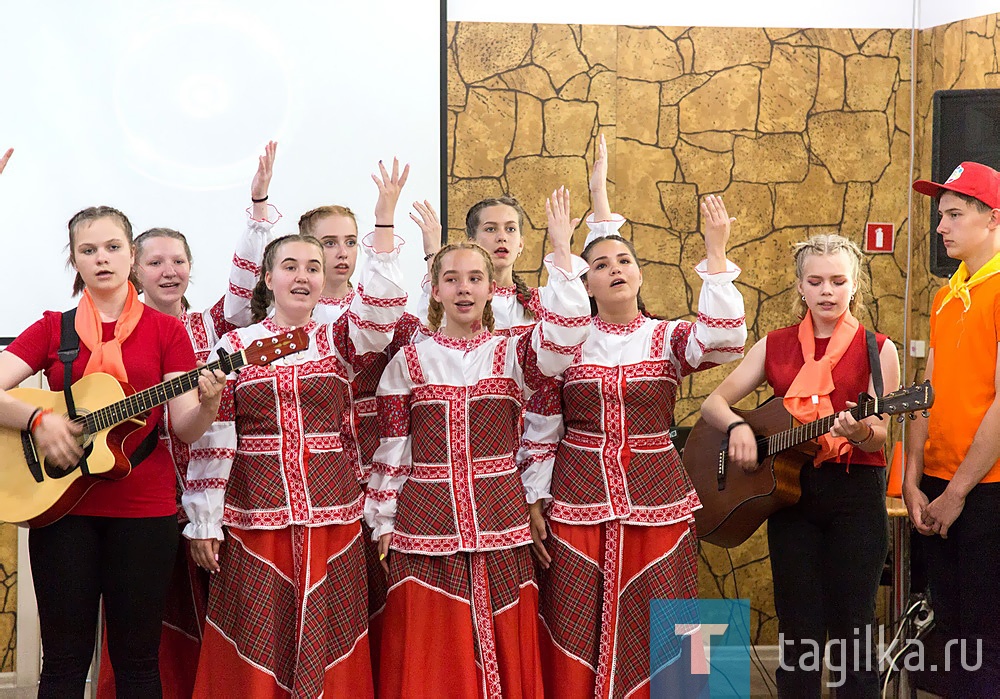
<instances>
[{"instance_id":1,"label":"red short-sleeved t-shirt of the girl playing the light guitar","mask_svg":"<svg viewBox=\"0 0 1000 699\"><path fill-rule=\"evenodd\" d=\"M21 333L7 351L23 359L35 371L44 371L52 391L63 390L59 350L62 314L46 311L42 319ZM104 340L114 337L115 324L104 323ZM83 376L90 350L81 343L73 362L73 381ZM194 369L194 349L184 326L176 318L143 306L142 317L122 343L122 360L129 385L137 391L163 381L164 374ZM131 454L151 430L158 428L163 406L154 408L145 426L128 436L124 444ZM164 517L177 514L177 486L170 452L160 440L153 453L125 478L99 480L87 491L70 514L98 517Z\"/></svg>"}]
</instances>

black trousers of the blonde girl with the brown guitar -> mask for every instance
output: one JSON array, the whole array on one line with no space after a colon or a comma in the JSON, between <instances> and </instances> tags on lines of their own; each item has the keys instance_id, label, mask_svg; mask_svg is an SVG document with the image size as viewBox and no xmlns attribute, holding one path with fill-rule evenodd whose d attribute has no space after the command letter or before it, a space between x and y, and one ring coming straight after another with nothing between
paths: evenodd
<instances>
[{"instance_id":1,"label":"black trousers of the blonde girl with the brown guitar","mask_svg":"<svg viewBox=\"0 0 1000 699\"><path fill-rule=\"evenodd\" d=\"M801 482L801 500L767 523L782 653L778 696L818 698L829 649L827 681L837 697L878 697L875 598L889 551L885 469L809 464Z\"/></svg>"}]
</instances>

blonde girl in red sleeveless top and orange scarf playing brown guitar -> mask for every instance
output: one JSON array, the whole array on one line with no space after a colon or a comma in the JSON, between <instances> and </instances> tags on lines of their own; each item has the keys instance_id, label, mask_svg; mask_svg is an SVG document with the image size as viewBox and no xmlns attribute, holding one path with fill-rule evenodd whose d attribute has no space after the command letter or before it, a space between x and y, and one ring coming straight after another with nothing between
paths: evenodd
<instances>
[{"instance_id":1,"label":"blonde girl in red sleeveless top and orange scarf playing brown guitar","mask_svg":"<svg viewBox=\"0 0 1000 699\"><path fill-rule=\"evenodd\" d=\"M833 428L819 440L815 468L802 470L801 499L767 522L774 606L785 639L778 693L820 696L820 671L804 669L799 659L817 644L824 647L829 633L831 641L841 641L832 647L848 654L834 661L842 663L834 667L846 668L838 694L877 697L878 665L867 656L870 648L858 649L868 645L866 625L875 623L888 549L886 428L877 417L858 422L846 412L855 405L852 397L875 393L865 329L855 317L861 305L861 252L839 235L814 236L795 248L795 275L801 322L754 345L705 400L702 413L729 432L730 461L747 471L760 467L756 439L730 406L765 381L801 422L837 413ZM884 335L876 338L884 385L897 386L896 349Z\"/></svg>"}]
</instances>

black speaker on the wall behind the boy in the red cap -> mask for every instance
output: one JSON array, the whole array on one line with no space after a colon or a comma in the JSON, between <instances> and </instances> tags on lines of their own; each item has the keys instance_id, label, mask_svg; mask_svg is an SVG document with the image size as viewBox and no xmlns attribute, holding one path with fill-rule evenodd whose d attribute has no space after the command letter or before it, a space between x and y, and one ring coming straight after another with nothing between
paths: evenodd
<instances>
[{"instance_id":1,"label":"black speaker on the wall behind the boy in the red cap","mask_svg":"<svg viewBox=\"0 0 1000 699\"><path fill-rule=\"evenodd\" d=\"M944 182L967 160L1000 170L1000 90L938 90L934 93L931 179ZM950 277L958 260L948 257L936 233L941 217L931 207L931 274Z\"/></svg>"}]
</instances>

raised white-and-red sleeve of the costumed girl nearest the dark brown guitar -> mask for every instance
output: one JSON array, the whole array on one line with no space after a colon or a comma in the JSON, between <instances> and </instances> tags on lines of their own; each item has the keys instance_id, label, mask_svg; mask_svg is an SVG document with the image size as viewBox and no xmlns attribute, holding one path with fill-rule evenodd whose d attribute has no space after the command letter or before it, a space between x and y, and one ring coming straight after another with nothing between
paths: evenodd
<instances>
[{"instance_id":1,"label":"raised white-and-red sleeve of the costumed girl nearest the dark brown guitar","mask_svg":"<svg viewBox=\"0 0 1000 699\"><path fill-rule=\"evenodd\" d=\"M695 267L702 279L695 322L672 321L665 351L681 376L743 356L747 340L743 296L733 281L740 268L726 261L726 271L709 274L703 260Z\"/></svg>"}]
</instances>

